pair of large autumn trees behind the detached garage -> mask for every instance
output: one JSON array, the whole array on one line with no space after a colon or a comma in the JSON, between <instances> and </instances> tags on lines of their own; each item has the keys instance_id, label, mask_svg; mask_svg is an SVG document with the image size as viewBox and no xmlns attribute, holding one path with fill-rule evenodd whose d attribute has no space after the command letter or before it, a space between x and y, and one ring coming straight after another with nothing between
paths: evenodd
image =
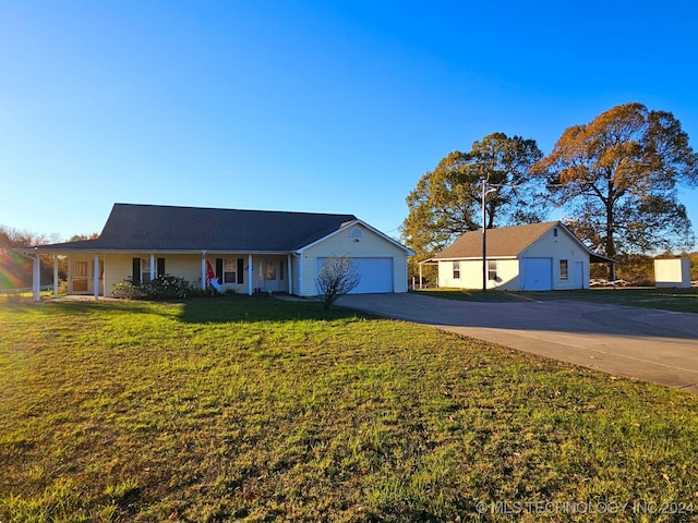
<instances>
[{"instance_id":1,"label":"pair of large autumn trees behind the detached garage","mask_svg":"<svg viewBox=\"0 0 698 523\"><path fill-rule=\"evenodd\" d=\"M698 155L681 122L642 104L613 107L566 129L547 155L534 139L492 133L453 151L407 196L404 242L425 259L482 227L533 223L561 209L565 224L612 257L693 248L679 187L698 185Z\"/></svg>"}]
</instances>

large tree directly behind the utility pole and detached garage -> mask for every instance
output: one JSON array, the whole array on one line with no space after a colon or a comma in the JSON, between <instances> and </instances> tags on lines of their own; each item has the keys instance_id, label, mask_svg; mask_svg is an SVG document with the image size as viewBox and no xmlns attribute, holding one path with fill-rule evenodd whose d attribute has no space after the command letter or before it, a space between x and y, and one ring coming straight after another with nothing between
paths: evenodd
<instances>
[{"instance_id":1,"label":"large tree directly behind the utility pole and detached garage","mask_svg":"<svg viewBox=\"0 0 698 523\"><path fill-rule=\"evenodd\" d=\"M405 243L422 258L479 229L483 179L497 187L486 200L488 228L540 221L542 206L535 206L529 170L542 157L535 141L504 133L474 142L469 153L450 153L407 196Z\"/></svg>"}]
</instances>

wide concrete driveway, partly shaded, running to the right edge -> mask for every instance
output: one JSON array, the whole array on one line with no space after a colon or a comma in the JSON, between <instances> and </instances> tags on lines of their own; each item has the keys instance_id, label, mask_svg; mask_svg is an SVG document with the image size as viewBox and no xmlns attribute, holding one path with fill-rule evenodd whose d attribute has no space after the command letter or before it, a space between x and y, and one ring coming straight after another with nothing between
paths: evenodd
<instances>
[{"instance_id":1,"label":"wide concrete driveway, partly shaded, running to the right edge","mask_svg":"<svg viewBox=\"0 0 698 523\"><path fill-rule=\"evenodd\" d=\"M552 302L353 294L339 305L698 393L698 315Z\"/></svg>"}]
</instances>

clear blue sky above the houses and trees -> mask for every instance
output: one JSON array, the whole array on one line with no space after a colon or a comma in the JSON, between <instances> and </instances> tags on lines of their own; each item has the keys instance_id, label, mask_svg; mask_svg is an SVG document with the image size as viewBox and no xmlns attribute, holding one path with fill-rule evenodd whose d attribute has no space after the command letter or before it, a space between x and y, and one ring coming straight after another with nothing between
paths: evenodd
<instances>
[{"instance_id":1,"label":"clear blue sky above the houses and trees","mask_svg":"<svg viewBox=\"0 0 698 523\"><path fill-rule=\"evenodd\" d=\"M698 148L688 1L0 0L0 224L99 232L115 202L351 212L492 132L639 101ZM694 229L696 191L684 191Z\"/></svg>"}]
</instances>

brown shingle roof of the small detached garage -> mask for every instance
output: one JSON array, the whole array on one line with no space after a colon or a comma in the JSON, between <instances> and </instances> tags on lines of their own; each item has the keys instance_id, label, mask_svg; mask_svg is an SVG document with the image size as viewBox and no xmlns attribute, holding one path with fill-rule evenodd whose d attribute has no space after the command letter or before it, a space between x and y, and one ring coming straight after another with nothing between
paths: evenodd
<instances>
[{"instance_id":1,"label":"brown shingle roof of the small detached garage","mask_svg":"<svg viewBox=\"0 0 698 523\"><path fill-rule=\"evenodd\" d=\"M558 228L566 232L573 241L579 244L592 263L615 262L593 253L559 221L545 221L528 226L502 227L488 229L488 257L515 258L533 243L540 240L547 231ZM433 256L431 259L482 259L482 231L470 231L458 238L453 244Z\"/></svg>"}]
</instances>

